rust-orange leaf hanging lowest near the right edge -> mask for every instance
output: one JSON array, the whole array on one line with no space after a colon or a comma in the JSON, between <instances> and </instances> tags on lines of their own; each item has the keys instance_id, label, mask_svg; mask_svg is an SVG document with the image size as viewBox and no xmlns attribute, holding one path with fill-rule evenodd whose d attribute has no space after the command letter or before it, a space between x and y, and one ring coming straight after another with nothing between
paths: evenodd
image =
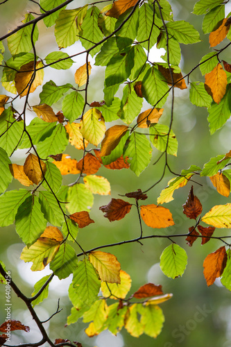
<instances>
[{"instance_id":1,"label":"rust-orange leaf hanging lowest near the right edge","mask_svg":"<svg viewBox=\"0 0 231 347\"><path fill-rule=\"evenodd\" d=\"M227 262L227 253L225 246L220 247L214 253L207 255L203 262L204 276L209 287L214 283L216 278L221 277Z\"/></svg>"}]
</instances>

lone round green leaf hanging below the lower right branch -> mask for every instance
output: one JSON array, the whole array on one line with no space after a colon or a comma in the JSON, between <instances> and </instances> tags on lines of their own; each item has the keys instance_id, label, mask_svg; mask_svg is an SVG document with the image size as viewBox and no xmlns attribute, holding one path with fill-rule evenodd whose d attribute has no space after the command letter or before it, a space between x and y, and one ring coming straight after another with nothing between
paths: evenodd
<instances>
[{"instance_id":1,"label":"lone round green leaf hanging below the lower right branch","mask_svg":"<svg viewBox=\"0 0 231 347\"><path fill-rule=\"evenodd\" d=\"M187 266L187 253L178 244L166 247L160 256L160 269L169 278L182 276Z\"/></svg>"}]
</instances>

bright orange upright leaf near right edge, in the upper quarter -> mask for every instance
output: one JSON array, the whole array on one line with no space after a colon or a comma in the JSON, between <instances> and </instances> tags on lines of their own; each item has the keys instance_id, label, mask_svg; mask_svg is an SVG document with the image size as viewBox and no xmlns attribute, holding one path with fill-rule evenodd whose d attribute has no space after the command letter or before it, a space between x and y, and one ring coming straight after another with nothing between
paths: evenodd
<instances>
[{"instance_id":1,"label":"bright orange upright leaf near right edge, in the upper quarter","mask_svg":"<svg viewBox=\"0 0 231 347\"><path fill-rule=\"evenodd\" d=\"M219 103L225 95L226 85L227 76L220 63L209 74L205 74L205 89L215 103Z\"/></svg>"}]
</instances>

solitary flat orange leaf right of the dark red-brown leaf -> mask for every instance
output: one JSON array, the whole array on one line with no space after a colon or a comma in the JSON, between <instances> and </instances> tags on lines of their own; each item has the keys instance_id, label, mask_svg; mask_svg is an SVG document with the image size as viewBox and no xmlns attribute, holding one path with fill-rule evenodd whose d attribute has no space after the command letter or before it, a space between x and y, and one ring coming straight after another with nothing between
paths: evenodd
<instances>
[{"instance_id":1,"label":"solitary flat orange leaf right of the dark red-brown leaf","mask_svg":"<svg viewBox=\"0 0 231 347\"><path fill-rule=\"evenodd\" d=\"M169 209L159 205L142 205L140 214L144 223L151 228L166 228L175 224Z\"/></svg>"}]
</instances>

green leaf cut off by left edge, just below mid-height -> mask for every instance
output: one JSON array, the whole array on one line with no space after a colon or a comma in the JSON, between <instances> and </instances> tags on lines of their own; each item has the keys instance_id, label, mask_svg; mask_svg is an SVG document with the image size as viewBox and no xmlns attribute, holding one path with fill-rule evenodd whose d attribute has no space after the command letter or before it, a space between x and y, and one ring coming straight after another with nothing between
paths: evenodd
<instances>
[{"instance_id":1,"label":"green leaf cut off by left edge, just below mid-height","mask_svg":"<svg viewBox=\"0 0 231 347\"><path fill-rule=\"evenodd\" d=\"M0 226L10 226L20 205L31 193L26 189L10 190L0 196Z\"/></svg>"}]
</instances>

